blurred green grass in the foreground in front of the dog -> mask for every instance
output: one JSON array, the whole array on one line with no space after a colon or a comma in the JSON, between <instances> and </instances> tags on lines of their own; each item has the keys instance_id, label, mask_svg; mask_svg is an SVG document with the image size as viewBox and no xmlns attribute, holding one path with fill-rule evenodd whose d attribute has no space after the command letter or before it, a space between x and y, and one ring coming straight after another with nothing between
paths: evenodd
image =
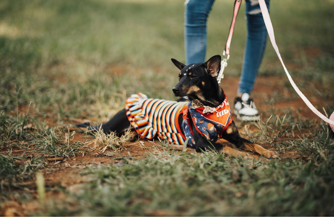
<instances>
[{"instance_id":1,"label":"blurred green grass in the foreground in front of the dog","mask_svg":"<svg viewBox=\"0 0 334 217\"><path fill-rule=\"evenodd\" d=\"M301 159L242 160L222 154L150 154L123 166L91 166L97 177L69 194L78 206L67 215L89 216L318 216L334 212L333 142L301 142ZM319 150L320 149L320 150ZM57 206L55 206L57 207ZM50 210L49 215L58 215ZM159 216L160 216L159 215Z\"/></svg>"}]
</instances>

